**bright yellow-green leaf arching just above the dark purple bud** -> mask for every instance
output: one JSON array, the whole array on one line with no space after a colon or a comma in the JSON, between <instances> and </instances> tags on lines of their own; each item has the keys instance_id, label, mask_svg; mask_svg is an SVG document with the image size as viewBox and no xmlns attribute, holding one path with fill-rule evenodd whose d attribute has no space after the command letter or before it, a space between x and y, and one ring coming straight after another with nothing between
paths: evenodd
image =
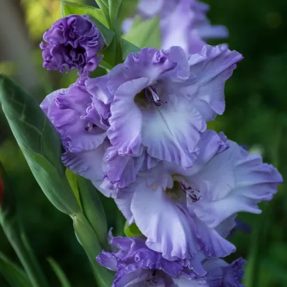
<instances>
[{"instance_id":1,"label":"bright yellow-green leaf arching just above the dark purple bud","mask_svg":"<svg viewBox=\"0 0 287 287\"><path fill-rule=\"evenodd\" d=\"M102 14L102 10L100 9L66 0L61 0L61 7L64 11L64 16L68 16L70 14L90 14L98 21L100 21L100 23L108 27L107 19L105 18L104 14Z\"/></svg>"}]
</instances>

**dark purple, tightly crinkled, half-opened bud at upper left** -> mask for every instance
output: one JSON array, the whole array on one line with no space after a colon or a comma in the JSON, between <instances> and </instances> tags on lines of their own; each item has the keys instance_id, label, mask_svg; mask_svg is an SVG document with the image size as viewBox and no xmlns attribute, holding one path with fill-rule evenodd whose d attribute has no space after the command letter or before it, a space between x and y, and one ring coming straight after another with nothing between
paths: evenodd
<instances>
[{"instance_id":1,"label":"dark purple, tightly crinkled, half-opened bud at upper left","mask_svg":"<svg viewBox=\"0 0 287 287\"><path fill-rule=\"evenodd\" d=\"M43 36L43 66L47 70L79 71L86 77L96 69L105 42L96 25L86 15L70 15L57 20Z\"/></svg>"}]
</instances>

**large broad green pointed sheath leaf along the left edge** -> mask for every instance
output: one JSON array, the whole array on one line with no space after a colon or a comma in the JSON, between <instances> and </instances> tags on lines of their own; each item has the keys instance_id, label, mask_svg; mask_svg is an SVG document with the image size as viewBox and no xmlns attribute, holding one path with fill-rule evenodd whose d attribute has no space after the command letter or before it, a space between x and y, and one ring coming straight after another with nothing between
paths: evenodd
<instances>
[{"instance_id":1,"label":"large broad green pointed sheath leaf along the left edge","mask_svg":"<svg viewBox=\"0 0 287 287\"><path fill-rule=\"evenodd\" d=\"M32 96L0 75L0 102L10 128L42 191L68 215L80 207L61 164L61 140Z\"/></svg>"}]
</instances>

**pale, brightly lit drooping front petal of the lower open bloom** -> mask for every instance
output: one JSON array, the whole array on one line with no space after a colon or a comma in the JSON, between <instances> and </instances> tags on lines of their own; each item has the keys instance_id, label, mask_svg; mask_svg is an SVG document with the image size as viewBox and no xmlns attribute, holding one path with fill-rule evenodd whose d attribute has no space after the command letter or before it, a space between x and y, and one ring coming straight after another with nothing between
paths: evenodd
<instances>
[{"instance_id":1,"label":"pale, brightly lit drooping front petal of the lower open bloom","mask_svg":"<svg viewBox=\"0 0 287 287\"><path fill-rule=\"evenodd\" d=\"M146 245L167 260L196 254L190 218L184 208L169 200L161 188L147 187L145 182L134 190L131 211L139 230L148 238Z\"/></svg>"}]
</instances>

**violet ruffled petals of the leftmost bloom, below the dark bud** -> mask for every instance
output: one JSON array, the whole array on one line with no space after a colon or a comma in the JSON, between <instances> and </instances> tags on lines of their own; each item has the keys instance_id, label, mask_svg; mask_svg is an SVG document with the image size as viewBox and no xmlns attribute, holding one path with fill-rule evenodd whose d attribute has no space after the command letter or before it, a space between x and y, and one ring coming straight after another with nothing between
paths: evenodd
<instances>
[{"instance_id":1,"label":"violet ruffled petals of the leftmost bloom, below the dark bud","mask_svg":"<svg viewBox=\"0 0 287 287\"><path fill-rule=\"evenodd\" d=\"M64 148L70 152L97 148L107 136L105 130L85 118L91 104L91 96L79 80L68 89L46 96L40 105L57 128Z\"/></svg>"}]
</instances>

